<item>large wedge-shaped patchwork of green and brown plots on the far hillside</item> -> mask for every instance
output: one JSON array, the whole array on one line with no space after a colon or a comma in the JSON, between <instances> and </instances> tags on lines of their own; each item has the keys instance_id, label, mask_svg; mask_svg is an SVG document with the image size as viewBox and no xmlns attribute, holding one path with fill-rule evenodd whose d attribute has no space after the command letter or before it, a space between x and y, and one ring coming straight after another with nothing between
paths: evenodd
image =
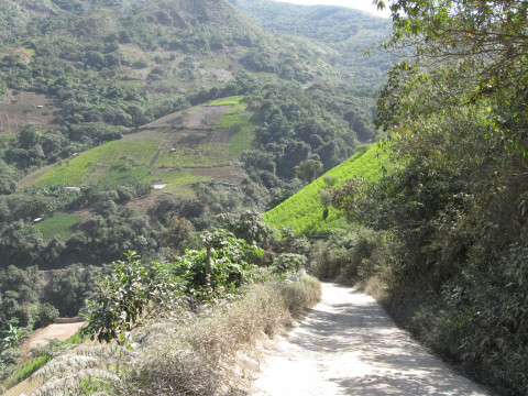
<instances>
[{"instance_id":1,"label":"large wedge-shaped patchwork of green and brown plots on the far hillside","mask_svg":"<svg viewBox=\"0 0 528 396\"><path fill-rule=\"evenodd\" d=\"M242 99L224 98L163 117L121 140L38 169L19 187L141 180L180 191L201 180L235 183L244 176L235 160L253 140Z\"/></svg>"}]
</instances>

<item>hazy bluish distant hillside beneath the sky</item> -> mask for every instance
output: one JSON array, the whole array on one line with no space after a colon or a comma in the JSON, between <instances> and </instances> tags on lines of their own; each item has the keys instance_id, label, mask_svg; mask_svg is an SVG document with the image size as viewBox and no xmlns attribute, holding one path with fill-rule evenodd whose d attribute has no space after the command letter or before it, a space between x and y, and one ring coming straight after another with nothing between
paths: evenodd
<instances>
[{"instance_id":1,"label":"hazy bluish distant hillside beneath the sky","mask_svg":"<svg viewBox=\"0 0 528 396\"><path fill-rule=\"evenodd\" d=\"M334 50L332 66L353 65L345 73L352 73L356 84L370 79L377 90L391 65L397 62L396 57L377 50L391 34L389 19L337 6L299 6L273 0L229 1L267 32L288 38L307 37ZM369 56L365 55L367 50Z\"/></svg>"}]
</instances>

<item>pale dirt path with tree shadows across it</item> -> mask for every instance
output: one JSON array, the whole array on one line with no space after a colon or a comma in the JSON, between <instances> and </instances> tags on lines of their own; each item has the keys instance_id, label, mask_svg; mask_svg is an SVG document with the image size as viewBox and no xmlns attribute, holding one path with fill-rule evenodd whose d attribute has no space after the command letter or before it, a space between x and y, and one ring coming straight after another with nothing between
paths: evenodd
<instances>
[{"instance_id":1,"label":"pale dirt path with tree shadows across it","mask_svg":"<svg viewBox=\"0 0 528 396\"><path fill-rule=\"evenodd\" d=\"M428 353L372 298L322 285L321 302L266 352L252 395L490 395Z\"/></svg>"}]
</instances>

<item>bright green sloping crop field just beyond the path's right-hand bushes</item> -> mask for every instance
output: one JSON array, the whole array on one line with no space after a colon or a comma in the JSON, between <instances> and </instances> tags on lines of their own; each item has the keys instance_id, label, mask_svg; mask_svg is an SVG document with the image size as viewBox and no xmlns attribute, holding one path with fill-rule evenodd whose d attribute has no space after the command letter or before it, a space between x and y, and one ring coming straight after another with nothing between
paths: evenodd
<instances>
[{"instance_id":1,"label":"bright green sloping crop field just beyond the path's right-hand bushes","mask_svg":"<svg viewBox=\"0 0 528 396\"><path fill-rule=\"evenodd\" d=\"M319 195L327 188L324 177L334 177L337 183L343 183L352 177L365 177L367 179L380 178L384 167L389 167L387 154L377 144L366 152L359 153L341 165L327 172L299 193L288 198L264 215L264 221L274 228L293 227L298 234L314 234L344 224L340 211L330 208L327 220L322 219L322 207Z\"/></svg>"}]
</instances>

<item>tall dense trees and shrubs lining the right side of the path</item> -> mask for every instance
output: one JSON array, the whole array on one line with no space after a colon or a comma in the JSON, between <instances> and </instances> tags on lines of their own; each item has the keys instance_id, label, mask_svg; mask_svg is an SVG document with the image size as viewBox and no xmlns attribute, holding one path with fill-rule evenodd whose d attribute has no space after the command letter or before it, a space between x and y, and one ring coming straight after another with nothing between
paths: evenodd
<instances>
[{"instance_id":1,"label":"tall dense trees and shrubs lining the right side of the path","mask_svg":"<svg viewBox=\"0 0 528 396\"><path fill-rule=\"evenodd\" d=\"M333 205L359 230L334 235L316 264L322 275L359 276L426 343L519 395L528 389L527 7L393 2L386 45L416 51L378 98L380 145L397 166L334 189Z\"/></svg>"}]
</instances>

